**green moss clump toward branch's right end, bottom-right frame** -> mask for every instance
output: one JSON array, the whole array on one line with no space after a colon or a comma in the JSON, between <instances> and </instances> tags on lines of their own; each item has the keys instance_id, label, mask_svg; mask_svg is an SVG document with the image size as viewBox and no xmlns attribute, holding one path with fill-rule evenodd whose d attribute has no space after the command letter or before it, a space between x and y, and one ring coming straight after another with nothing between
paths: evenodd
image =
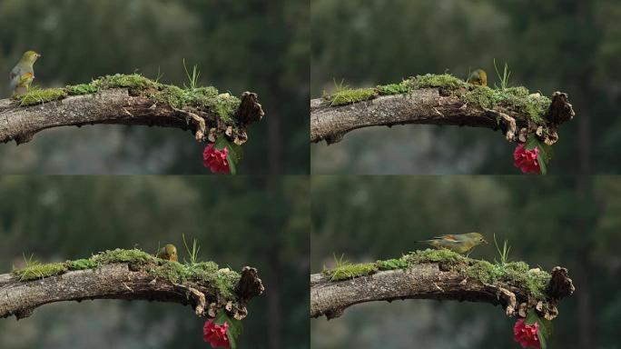
<instances>
[{"instance_id":1,"label":"green moss clump toward branch's right end, bottom-right frame","mask_svg":"<svg viewBox=\"0 0 621 349\"><path fill-rule=\"evenodd\" d=\"M524 262L491 264L479 260L474 260L472 264L463 268L461 273L485 284L498 282L522 284L537 299L545 297L547 284L552 277L547 272L531 270Z\"/></svg>"}]
</instances>

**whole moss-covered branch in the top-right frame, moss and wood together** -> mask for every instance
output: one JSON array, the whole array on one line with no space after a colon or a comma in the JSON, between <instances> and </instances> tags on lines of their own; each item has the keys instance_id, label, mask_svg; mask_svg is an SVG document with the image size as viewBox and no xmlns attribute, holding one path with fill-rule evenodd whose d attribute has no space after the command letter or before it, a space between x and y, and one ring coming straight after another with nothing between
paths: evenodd
<instances>
[{"instance_id":1,"label":"whole moss-covered branch in the top-right frame, moss and wood together","mask_svg":"<svg viewBox=\"0 0 621 349\"><path fill-rule=\"evenodd\" d=\"M451 75L423 75L376 88L338 86L335 94L312 99L311 142L337 143L362 127L418 124L499 129L508 141L526 142L527 135L537 134L551 145L557 126L574 115L563 93L550 103L524 87L496 90Z\"/></svg>"}]
</instances>

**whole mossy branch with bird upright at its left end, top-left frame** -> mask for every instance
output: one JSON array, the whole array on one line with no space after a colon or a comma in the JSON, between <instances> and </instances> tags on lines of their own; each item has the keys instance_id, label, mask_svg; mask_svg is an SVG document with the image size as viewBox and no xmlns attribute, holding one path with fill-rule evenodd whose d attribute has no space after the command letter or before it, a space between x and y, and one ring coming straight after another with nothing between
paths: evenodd
<instances>
[{"instance_id":1,"label":"whole mossy branch with bird upright at its left end, top-left frame","mask_svg":"<svg viewBox=\"0 0 621 349\"><path fill-rule=\"evenodd\" d=\"M226 134L241 145L247 139L246 127L262 116L257 95L250 92L240 100L218 95L212 87L182 89L141 75L112 75L0 100L0 142L23 144L58 126L116 124L191 130L201 142Z\"/></svg>"}]
</instances>

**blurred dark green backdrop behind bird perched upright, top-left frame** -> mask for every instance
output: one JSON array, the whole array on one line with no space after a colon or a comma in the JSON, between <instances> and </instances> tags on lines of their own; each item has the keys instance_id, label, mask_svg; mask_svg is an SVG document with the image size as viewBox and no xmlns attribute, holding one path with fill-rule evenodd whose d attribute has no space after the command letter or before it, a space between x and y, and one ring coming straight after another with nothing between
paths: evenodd
<instances>
[{"instance_id":1,"label":"blurred dark green backdrop behind bird perched upright, top-left frame","mask_svg":"<svg viewBox=\"0 0 621 349\"><path fill-rule=\"evenodd\" d=\"M183 85L185 59L200 85L259 94L266 115L251 125L239 173L306 174L309 12L305 0L0 0L0 72L34 49L42 87L133 72ZM202 148L178 129L59 128L0 145L0 172L205 174Z\"/></svg>"}]
</instances>

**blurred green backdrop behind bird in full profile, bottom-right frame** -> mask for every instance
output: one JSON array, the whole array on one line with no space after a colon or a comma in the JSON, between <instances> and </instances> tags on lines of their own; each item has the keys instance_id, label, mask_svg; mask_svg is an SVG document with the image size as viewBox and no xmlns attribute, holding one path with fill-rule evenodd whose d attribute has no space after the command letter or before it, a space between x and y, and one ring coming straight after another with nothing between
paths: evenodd
<instances>
[{"instance_id":1,"label":"blurred green backdrop behind bird in full profile, bottom-right frame","mask_svg":"<svg viewBox=\"0 0 621 349\"><path fill-rule=\"evenodd\" d=\"M509 258L563 265L576 293L559 305L550 348L619 348L621 177L327 176L311 179L311 273L399 257L439 234L481 232ZM470 257L494 262L494 244ZM311 347L517 348L514 318L489 304L406 300L358 304L311 320Z\"/></svg>"}]
</instances>

